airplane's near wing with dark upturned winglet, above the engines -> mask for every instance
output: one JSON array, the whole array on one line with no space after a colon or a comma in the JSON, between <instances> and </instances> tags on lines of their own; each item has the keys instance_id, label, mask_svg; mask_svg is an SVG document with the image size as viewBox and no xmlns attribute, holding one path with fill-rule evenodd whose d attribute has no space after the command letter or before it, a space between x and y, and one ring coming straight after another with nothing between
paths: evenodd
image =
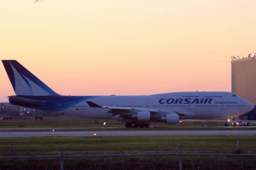
<instances>
[{"instance_id":1,"label":"airplane's near wing with dark upturned winglet, above the engines","mask_svg":"<svg viewBox=\"0 0 256 170\"><path fill-rule=\"evenodd\" d=\"M113 106L100 106L91 101L86 101L90 107L97 107L101 109L110 109L108 113L112 113L112 116L116 115L129 115L132 112L138 111L148 111L152 115L168 115L168 114L178 114L180 116L185 115L184 111L166 111L166 110L158 110L158 109L147 109L147 108L136 108L136 107L113 107Z\"/></svg>"}]
</instances>

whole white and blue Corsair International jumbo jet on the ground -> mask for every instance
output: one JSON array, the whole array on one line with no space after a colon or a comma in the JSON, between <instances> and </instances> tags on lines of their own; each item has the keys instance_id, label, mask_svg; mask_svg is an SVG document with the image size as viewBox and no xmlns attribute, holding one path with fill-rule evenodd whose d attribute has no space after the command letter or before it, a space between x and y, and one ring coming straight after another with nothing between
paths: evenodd
<instances>
[{"instance_id":1,"label":"whole white and blue Corsair International jumbo jet on the ground","mask_svg":"<svg viewBox=\"0 0 256 170\"><path fill-rule=\"evenodd\" d=\"M150 122L178 124L182 119L218 119L243 115L254 109L231 92L174 92L130 96L59 95L16 60L2 60L16 95L13 105L71 117L114 119L125 126L146 127Z\"/></svg>"}]
</instances>

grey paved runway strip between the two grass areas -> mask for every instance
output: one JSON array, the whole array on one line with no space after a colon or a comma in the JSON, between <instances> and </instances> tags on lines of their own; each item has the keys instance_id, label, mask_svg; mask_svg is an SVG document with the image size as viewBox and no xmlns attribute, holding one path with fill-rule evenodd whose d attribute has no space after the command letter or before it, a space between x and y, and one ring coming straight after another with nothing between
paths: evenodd
<instances>
[{"instance_id":1,"label":"grey paved runway strip between the two grass areas","mask_svg":"<svg viewBox=\"0 0 256 170\"><path fill-rule=\"evenodd\" d=\"M94 135L96 134L96 135ZM252 136L256 130L116 130L116 131L49 131L0 132L0 138L40 136Z\"/></svg>"}]
</instances>

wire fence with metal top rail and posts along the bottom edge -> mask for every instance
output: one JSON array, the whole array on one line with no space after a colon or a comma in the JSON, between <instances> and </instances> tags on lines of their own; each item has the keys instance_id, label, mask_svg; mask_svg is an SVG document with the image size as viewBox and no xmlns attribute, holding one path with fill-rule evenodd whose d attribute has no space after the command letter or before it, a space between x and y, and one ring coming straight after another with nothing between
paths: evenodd
<instances>
[{"instance_id":1,"label":"wire fence with metal top rail and posts along the bottom edge","mask_svg":"<svg viewBox=\"0 0 256 170\"><path fill-rule=\"evenodd\" d=\"M255 156L256 154L182 152L0 156L0 169L255 169Z\"/></svg>"}]
</instances>

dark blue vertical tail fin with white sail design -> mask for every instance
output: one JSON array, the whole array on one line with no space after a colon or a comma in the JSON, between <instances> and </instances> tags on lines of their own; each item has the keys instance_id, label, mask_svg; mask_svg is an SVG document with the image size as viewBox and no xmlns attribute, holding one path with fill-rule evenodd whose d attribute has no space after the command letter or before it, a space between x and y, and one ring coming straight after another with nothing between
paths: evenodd
<instances>
[{"instance_id":1,"label":"dark blue vertical tail fin with white sail design","mask_svg":"<svg viewBox=\"0 0 256 170\"><path fill-rule=\"evenodd\" d=\"M16 60L2 60L16 95L58 95Z\"/></svg>"}]
</instances>

